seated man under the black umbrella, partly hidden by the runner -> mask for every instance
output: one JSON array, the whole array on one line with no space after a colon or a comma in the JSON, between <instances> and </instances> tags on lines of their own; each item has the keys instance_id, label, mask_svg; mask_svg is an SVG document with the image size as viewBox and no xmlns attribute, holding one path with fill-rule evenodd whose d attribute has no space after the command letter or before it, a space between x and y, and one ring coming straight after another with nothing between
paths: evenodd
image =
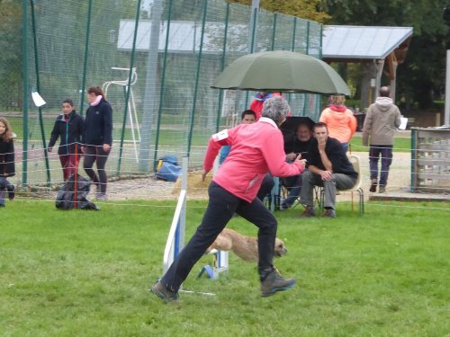
<instances>
[{"instance_id":1,"label":"seated man under the black umbrella, partly hidden by the runner","mask_svg":"<svg viewBox=\"0 0 450 337\"><path fill-rule=\"evenodd\" d=\"M292 163L298 155L302 155L302 159L308 160L308 150L310 148L311 139L311 126L306 122L301 122L297 127L295 134L284 137L284 153L286 154L286 161ZM282 182L289 190L289 195L281 204L281 210L284 210L291 208L295 200L300 197L300 191L302 190L302 174L282 178Z\"/></svg>"}]
</instances>

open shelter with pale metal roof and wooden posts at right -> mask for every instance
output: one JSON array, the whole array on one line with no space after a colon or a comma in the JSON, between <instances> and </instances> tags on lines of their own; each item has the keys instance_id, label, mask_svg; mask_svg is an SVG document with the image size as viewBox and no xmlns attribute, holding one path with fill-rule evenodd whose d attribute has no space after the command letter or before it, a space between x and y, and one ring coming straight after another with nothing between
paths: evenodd
<instances>
[{"instance_id":1,"label":"open shelter with pale metal roof and wooden posts at right","mask_svg":"<svg viewBox=\"0 0 450 337\"><path fill-rule=\"evenodd\" d=\"M324 26L322 59L326 62L373 62L376 93L381 85L384 63L387 63L395 99L397 66L406 57L412 31L412 27Z\"/></svg>"}]
</instances>

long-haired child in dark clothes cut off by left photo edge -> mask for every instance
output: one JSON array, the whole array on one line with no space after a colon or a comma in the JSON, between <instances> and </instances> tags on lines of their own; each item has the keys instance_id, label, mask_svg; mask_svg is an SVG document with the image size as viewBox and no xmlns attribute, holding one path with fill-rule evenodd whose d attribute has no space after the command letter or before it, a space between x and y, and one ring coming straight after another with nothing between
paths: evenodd
<instances>
[{"instance_id":1,"label":"long-haired child in dark clothes cut off by left photo edge","mask_svg":"<svg viewBox=\"0 0 450 337\"><path fill-rule=\"evenodd\" d=\"M15 175L14 133L6 119L0 117L0 208L4 208L4 190L14 199L14 185L7 180Z\"/></svg>"}]
</instances>

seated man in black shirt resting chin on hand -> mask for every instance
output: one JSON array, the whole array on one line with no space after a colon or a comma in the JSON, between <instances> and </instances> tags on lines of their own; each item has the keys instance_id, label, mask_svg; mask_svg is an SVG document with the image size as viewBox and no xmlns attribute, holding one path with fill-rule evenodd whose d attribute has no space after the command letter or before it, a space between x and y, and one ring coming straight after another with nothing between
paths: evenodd
<instances>
[{"instance_id":1,"label":"seated man in black shirt resting chin on hand","mask_svg":"<svg viewBox=\"0 0 450 337\"><path fill-rule=\"evenodd\" d=\"M348 160L336 138L329 137L327 124L319 122L312 129L314 138L309 151L309 171L302 174L302 204L306 206L302 217L315 216L313 189L323 186L325 217L336 217L336 191L356 185L358 173Z\"/></svg>"}]
</instances>

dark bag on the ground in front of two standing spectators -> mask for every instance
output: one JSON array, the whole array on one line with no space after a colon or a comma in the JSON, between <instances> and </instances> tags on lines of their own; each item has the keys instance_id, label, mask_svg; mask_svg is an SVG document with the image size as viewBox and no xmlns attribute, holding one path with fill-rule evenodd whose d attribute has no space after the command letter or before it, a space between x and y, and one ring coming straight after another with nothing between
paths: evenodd
<instances>
[{"instance_id":1,"label":"dark bag on the ground in front of two standing spectators","mask_svg":"<svg viewBox=\"0 0 450 337\"><path fill-rule=\"evenodd\" d=\"M94 204L94 202L87 200L87 194L91 189L91 182L83 178L81 175L76 175L76 208L79 209L94 209L99 208ZM61 189L58 191L57 199L55 202L56 208L59 209L72 209L75 206L75 175L72 174L68 177L67 182L62 185Z\"/></svg>"}]
</instances>

